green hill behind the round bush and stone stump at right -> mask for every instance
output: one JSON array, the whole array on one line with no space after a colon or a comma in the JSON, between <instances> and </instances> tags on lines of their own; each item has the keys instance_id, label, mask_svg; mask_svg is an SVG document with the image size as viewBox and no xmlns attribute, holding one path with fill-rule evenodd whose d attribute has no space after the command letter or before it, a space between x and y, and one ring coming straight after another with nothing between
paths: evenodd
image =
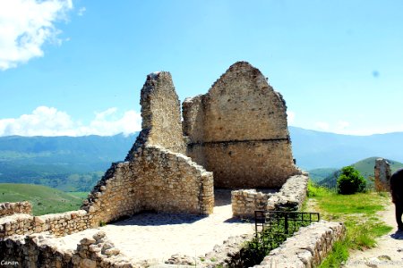
<instances>
[{"instance_id":1,"label":"green hill behind the round bush and stone stump at right","mask_svg":"<svg viewBox=\"0 0 403 268\"><path fill-rule=\"evenodd\" d=\"M364 178L367 180L367 182L370 185L372 185L373 181L371 180L371 178L373 178L373 176L374 176L373 170L375 167L375 160L377 158L380 158L380 157L373 156L373 157L365 158L361 161L358 161L358 162L350 164L350 165L354 166L356 168L356 170L358 172L360 172L361 175L364 176ZM392 173L396 172L399 168L403 168L403 163L400 163L400 162L394 161L394 160L390 160L390 159L387 159L387 160L390 163L390 171ZM328 177L319 181L319 184L323 185L323 186L327 186L327 187L336 187L336 181L338 180L340 170L341 169L339 169L335 172L332 172Z\"/></svg>"}]
</instances>

